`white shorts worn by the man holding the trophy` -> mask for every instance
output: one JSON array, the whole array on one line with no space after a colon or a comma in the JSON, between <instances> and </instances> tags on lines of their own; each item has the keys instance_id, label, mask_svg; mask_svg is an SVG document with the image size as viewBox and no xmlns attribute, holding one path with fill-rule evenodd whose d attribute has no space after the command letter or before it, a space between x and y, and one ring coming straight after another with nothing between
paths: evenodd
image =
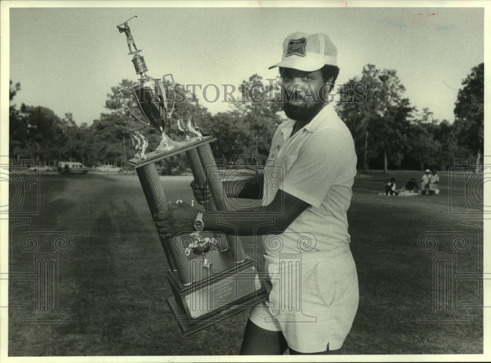
<instances>
[{"instance_id":1,"label":"white shorts worn by the man holding the trophy","mask_svg":"<svg viewBox=\"0 0 491 363\"><path fill-rule=\"evenodd\" d=\"M266 256L266 271L272 285L269 301L253 308L249 319L263 329L281 331L288 346L300 353L341 348L359 301L349 248L336 257L324 253Z\"/></svg>"}]
</instances>

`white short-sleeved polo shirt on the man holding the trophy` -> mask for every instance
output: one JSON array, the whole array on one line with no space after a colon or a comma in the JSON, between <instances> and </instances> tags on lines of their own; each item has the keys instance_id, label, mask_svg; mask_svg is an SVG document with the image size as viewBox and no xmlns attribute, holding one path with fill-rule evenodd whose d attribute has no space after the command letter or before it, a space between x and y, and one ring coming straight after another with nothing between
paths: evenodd
<instances>
[{"instance_id":1,"label":"white short-sleeved polo shirt on the man holding the trophy","mask_svg":"<svg viewBox=\"0 0 491 363\"><path fill-rule=\"evenodd\" d=\"M310 207L279 235L284 244L280 252L266 248L271 257L278 253L328 252L348 247L350 242L346 211L351 204L351 188L356 175L351 132L338 117L333 103L324 106L290 137L295 123L288 120L274 133L268 160L270 164L273 160L274 166L281 167L283 172L273 178L273 173L265 168L263 203L270 204L281 188ZM307 240L299 240L302 236ZM303 247L300 246L302 243Z\"/></svg>"}]
</instances>

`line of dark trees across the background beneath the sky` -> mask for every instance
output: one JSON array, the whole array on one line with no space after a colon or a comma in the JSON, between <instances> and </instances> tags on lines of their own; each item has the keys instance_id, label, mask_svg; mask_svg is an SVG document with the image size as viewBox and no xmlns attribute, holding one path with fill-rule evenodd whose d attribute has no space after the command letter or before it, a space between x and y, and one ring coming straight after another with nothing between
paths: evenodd
<instances>
[{"instance_id":1,"label":"line of dark trees across the background beneath the sky","mask_svg":"<svg viewBox=\"0 0 491 363\"><path fill-rule=\"evenodd\" d=\"M186 91L184 102L175 104L166 133L173 140L183 140L176 120L187 120L192 115L204 135L218 139L211 144L216 158L230 161L234 155L252 155L264 163L274 130L285 120L281 104L268 97L278 94L278 84L264 83L257 74L244 80L240 86L241 102L231 101L230 110L216 115ZM261 87L255 86L258 84ZM359 169L445 170L456 158L483 153L484 63L474 67L463 80L455 102L453 124L435 119L427 108L418 110L412 106L404 97L405 87L395 70L381 70L367 64L361 76L349 80L350 84L363 85L366 98L363 102L336 102L335 107L352 132ZM147 137L147 152L154 150L160 140L158 130L136 121L120 96L121 88L133 85L134 81L123 79L112 87L105 104L107 112L91 125L79 126L71 113L60 118L40 105L17 107L13 101L17 92L22 91L21 84L10 80L10 155L18 161L30 159L35 165L56 165L60 160L72 160L86 166L124 167L134 155L131 134L135 131ZM136 110L130 95L124 97L124 102ZM357 99L355 89L343 87L342 97ZM250 102L251 99L264 101ZM188 165L180 155L161 161L159 168L161 174L174 174L187 171Z\"/></svg>"}]
</instances>

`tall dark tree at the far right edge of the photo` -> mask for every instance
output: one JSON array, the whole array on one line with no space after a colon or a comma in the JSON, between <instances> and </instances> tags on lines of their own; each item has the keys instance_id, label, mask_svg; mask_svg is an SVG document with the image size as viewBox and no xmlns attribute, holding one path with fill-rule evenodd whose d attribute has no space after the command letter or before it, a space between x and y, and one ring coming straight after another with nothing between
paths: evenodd
<instances>
[{"instance_id":1,"label":"tall dark tree at the far right edge of the photo","mask_svg":"<svg viewBox=\"0 0 491 363\"><path fill-rule=\"evenodd\" d=\"M484 63L474 67L462 85L453 127L459 145L480 155L484 152Z\"/></svg>"}]
</instances>

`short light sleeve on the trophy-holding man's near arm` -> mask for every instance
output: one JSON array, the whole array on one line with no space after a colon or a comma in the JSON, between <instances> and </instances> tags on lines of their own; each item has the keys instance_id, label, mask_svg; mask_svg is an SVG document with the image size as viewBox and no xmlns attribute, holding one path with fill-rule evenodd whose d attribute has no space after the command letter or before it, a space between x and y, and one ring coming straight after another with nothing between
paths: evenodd
<instances>
[{"instance_id":1,"label":"short light sleeve on the trophy-holding man's near arm","mask_svg":"<svg viewBox=\"0 0 491 363\"><path fill-rule=\"evenodd\" d=\"M353 139L339 130L322 129L300 147L281 189L302 201L320 207L332 185L356 175Z\"/></svg>"}]
</instances>

